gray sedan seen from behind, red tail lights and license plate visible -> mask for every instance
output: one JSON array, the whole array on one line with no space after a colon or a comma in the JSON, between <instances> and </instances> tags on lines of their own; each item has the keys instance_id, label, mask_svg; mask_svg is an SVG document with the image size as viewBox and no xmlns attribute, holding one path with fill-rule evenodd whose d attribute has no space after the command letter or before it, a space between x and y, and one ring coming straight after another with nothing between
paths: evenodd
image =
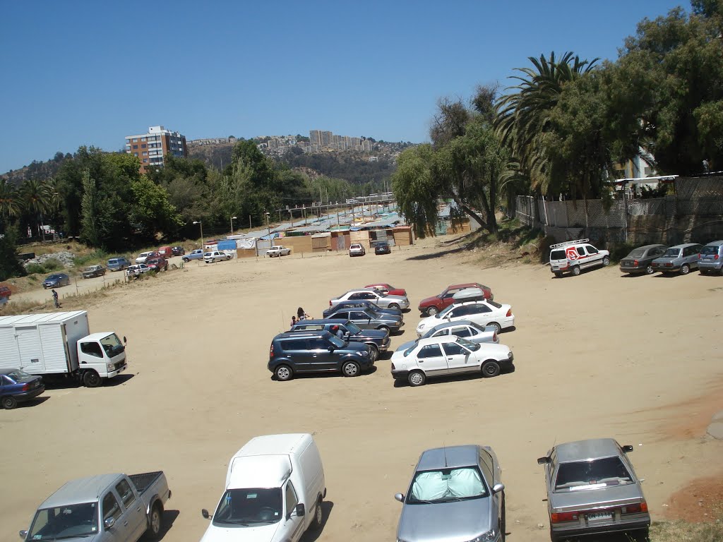
<instances>
[{"instance_id":1,"label":"gray sedan seen from behind, red tail lights and license plate visible","mask_svg":"<svg viewBox=\"0 0 723 542\"><path fill-rule=\"evenodd\" d=\"M614 439L566 442L540 457L552 542L578 535L643 531L650 514L628 460L632 446Z\"/></svg>"}]
</instances>

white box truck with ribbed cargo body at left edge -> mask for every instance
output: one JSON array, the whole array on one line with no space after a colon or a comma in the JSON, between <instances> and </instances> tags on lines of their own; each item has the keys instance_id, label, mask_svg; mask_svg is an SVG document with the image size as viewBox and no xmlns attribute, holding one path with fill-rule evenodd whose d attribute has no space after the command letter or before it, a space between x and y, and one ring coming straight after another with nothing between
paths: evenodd
<instances>
[{"instance_id":1,"label":"white box truck with ribbed cargo body at left edge","mask_svg":"<svg viewBox=\"0 0 723 542\"><path fill-rule=\"evenodd\" d=\"M125 337L124 343L125 343ZM97 387L126 367L114 332L90 334L87 311L0 317L0 364L30 374L64 374Z\"/></svg>"}]
</instances>

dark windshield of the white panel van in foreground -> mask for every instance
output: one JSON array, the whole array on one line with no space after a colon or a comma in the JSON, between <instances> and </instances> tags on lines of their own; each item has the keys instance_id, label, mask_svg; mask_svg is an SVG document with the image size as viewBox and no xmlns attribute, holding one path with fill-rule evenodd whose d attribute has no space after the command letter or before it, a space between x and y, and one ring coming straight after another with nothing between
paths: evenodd
<instances>
[{"instance_id":1,"label":"dark windshield of the white panel van in foreground","mask_svg":"<svg viewBox=\"0 0 723 542\"><path fill-rule=\"evenodd\" d=\"M227 489L213 515L218 527L248 527L281 520L281 488Z\"/></svg>"}]
</instances>

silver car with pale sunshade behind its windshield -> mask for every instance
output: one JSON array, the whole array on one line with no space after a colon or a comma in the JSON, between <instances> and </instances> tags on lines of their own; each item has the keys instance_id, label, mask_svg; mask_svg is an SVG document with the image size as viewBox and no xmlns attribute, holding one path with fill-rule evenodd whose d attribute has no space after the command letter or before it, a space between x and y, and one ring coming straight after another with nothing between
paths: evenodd
<instances>
[{"instance_id":1,"label":"silver car with pale sunshade behind its windshield","mask_svg":"<svg viewBox=\"0 0 723 542\"><path fill-rule=\"evenodd\" d=\"M428 449L419 457L403 503L397 540L403 542L505 539L505 486L497 456L469 444Z\"/></svg>"}]
</instances>

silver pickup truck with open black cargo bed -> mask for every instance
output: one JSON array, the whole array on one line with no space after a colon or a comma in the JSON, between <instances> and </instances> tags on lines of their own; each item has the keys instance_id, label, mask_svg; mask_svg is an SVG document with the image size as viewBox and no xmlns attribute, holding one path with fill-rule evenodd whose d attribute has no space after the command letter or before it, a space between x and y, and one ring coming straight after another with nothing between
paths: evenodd
<instances>
[{"instance_id":1,"label":"silver pickup truck with open black cargo bed","mask_svg":"<svg viewBox=\"0 0 723 542\"><path fill-rule=\"evenodd\" d=\"M80 478L40 504L20 537L27 542L136 542L146 532L153 537L161 532L163 505L170 498L162 470Z\"/></svg>"}]
</instances>

